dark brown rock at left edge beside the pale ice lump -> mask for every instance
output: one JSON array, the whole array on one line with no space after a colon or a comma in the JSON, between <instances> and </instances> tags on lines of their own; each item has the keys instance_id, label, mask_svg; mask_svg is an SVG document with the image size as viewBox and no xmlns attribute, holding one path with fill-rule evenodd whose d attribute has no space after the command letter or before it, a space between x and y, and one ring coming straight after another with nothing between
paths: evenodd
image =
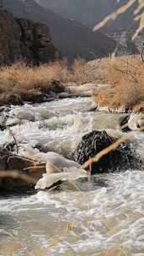
<instances>
[{"instance_id":1,"label":"dark brown rock at left edge beside the pale ice lump","mask_svg":"<svg viewBox=\"0 0 144 256\"><path fill-rule=\"evenodd\" d=\"M45 163L37 163L0 148L0 189L34 188L42 173L45 173Z\"/></svg>"}]
</instances>

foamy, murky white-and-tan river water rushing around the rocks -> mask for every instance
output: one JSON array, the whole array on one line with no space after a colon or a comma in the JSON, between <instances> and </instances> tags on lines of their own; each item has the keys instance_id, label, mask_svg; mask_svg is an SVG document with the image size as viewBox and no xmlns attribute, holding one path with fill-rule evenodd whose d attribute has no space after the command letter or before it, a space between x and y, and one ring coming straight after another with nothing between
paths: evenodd
<instances>
[{"instance_id":1,"label":"foamy, murky white-and-tan river water rushing around the rocks","mask_svg":"<svg viewBox=\"0 0 144 256\"><path fill-rule=\"evenodd\" d=\"M91 98L77 98L13 106L9 122L13 115L19 120L12 128L19 154L39 147L67 157L88 131L120 134L120 114L88 112L91 105ZM20 119L19 111L29 120ZM2 144L11 139L8 131L0 131ZM134 141L142 157L144 135ZM143 172L95 175L80 188L1 195L0 256L144 255Z\"/></svg>"}]
</instances>

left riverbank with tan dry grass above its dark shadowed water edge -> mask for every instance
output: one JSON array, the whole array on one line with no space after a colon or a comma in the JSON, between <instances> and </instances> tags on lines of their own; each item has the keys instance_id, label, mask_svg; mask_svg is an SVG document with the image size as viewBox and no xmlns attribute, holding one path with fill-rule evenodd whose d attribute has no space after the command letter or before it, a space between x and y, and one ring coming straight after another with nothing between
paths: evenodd
<instances>
[{"instance_id":1,"label":"left riverbank with tan dry grass above its dark shadowed water edge","mask_svg":"<svg viewBox=\"0 0 144 256\"><path fill-rule=\"evenodd\" d=\"M19 105L25 101L41 103L55 99L55 93L63 93L66 89L56 80L56 72L52 75L53 69L54 64L45 67L28 67L24 62L2 67L0 70L0 106Z\"/></svg>"}]
</instances>

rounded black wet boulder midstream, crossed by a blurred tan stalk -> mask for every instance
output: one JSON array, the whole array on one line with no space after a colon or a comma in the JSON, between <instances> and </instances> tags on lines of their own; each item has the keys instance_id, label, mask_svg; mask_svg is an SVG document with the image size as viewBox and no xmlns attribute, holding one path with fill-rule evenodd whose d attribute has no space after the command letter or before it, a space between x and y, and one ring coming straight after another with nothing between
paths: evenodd
<instances>
[{"instance_id":1,"label":"rounded black wet boulder midstream, crossed by a blurred tan stalk","mask_svg":"<svg viewBox=\"0 0 144 256\"><path fill-rule=\"evenodd\" d=\"M116 139L109 136L106 131L92 131L83 136L82 141L72 153L72 158L77 163L83 164L115 141ZM109 152L98 163L92 164L92 173L114 172L140 167L141 160L136 155L135 150L131 148L129 143L121 143L115 151Z\"/></svg>"}]
</instances>

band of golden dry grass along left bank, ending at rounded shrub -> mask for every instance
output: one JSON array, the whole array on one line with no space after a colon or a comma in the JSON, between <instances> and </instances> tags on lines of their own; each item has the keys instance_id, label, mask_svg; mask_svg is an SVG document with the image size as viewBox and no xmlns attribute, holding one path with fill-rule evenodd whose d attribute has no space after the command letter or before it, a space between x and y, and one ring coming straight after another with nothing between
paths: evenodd
<instances>
[{"instance_id":1,"label":"band of golden dry grass along left bank, ending at rounded shrub","mask_svg":"<svg viewBox=\"0 0 144 256\"><path fill-rule=\"evenodd\" d=\"M14 63L9 67L0 69L0 93L10 90L43 89L48 83L57 80L61 83L88 82L87 62L77 59L72 67L67 66L67 61L55 61L40 67L29 67L24 62Z\"/></svg>"}]
</instances>

